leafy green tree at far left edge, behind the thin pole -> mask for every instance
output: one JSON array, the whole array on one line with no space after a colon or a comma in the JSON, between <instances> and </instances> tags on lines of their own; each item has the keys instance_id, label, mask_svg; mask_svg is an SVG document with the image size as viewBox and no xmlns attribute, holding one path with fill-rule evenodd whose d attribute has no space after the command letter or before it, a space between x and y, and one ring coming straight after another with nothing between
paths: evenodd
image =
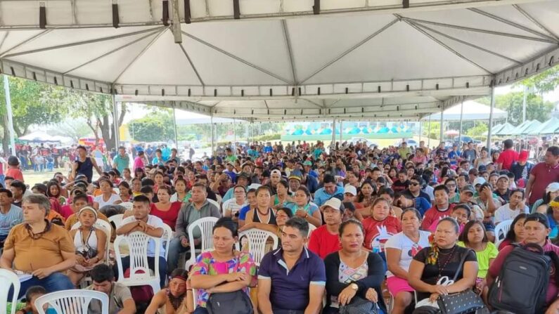
<instances>
[{"instance_id":1,"label":"leafy green tree at far left edge, behind the thin pole","mask_svg":"<svg viewBox=\"0 0 559 314\"><path fill-rule=\"evenodd\" d=\"M68 100L65 89L27 79L7 77L15 136L24 136L33 124L51 124L60 122L68 113ZM4 81L2 81L2 84ZM8 115L6 112L6 93L0 87L0 125L3 129L2 148L8 152Z\"/></svg>"}]
</instances>

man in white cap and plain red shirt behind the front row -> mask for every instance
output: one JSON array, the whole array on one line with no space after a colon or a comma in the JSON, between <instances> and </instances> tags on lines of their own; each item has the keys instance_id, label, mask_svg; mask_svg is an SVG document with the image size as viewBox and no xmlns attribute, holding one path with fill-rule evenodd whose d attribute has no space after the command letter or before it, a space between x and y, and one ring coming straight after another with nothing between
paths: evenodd
<instances>
[{"instance_id":1,"label":"man in white cap and plain red shirt behind the front row","mask_svg":"<svg viewBox=\"0 0 559 314\"><path fill-rule=\"evenodd\" d=\"M328 199L321 207L325 225L321 225L311 233L309 250L324 259L328 254L340 250L338 229L342 223L342 201L337 198Z\"/></svg>"}]
</instances>

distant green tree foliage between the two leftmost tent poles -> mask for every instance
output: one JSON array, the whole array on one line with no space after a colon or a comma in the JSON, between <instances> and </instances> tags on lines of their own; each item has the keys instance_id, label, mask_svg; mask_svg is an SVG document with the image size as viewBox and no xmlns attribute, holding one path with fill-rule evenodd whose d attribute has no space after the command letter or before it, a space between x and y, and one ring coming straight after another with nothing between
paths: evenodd
<instances>
[{"instance_id":1,"label":"distant green tree foliage between the two leftmost tent poles","mask_svg":"<svg viewBox=\"0 0 559 314\"><path fill-rule=\"evenodd\" d=\"M146 117L131 120L128 129L134 134L134 140L140 142L174 140L173 117L166 111L153 111Z\"/></svg>"}]
</instances>

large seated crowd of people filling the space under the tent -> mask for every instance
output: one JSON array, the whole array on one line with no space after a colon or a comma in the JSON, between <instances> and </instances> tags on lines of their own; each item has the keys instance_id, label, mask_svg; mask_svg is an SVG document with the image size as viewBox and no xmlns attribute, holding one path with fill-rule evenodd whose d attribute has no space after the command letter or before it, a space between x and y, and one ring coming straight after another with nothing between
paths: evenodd
<instances>
[{"instance_id":1,"label":"large seated crowd of people filling the space under the tent","mask_svg":"<svg viewBox=\"0 0 559 314\"><path fill-rule=\"evenodd\" d=\"M532 313L559 313L558 146L532 162L512 140L500 150L254 143L195 161L134 149L131 159L120 147L104 169L78 146L68 174L32 187L21 159L8 157L0 268L22 278L20 313L37 313L32 301L41 294L84 282L110 296L110 314L214 313L227 293L233 309L259 313L438 313L447 296L467 291L504 310L517 298L503 278L519 250L541 252L553 270L539 274L543 296L523 300L534 303ZM108 233L96 224L119 214ZM203 241L195 229L191 242L188 227L205 217L218 218L213 249L187 267L181 256ZM504 225L510 230L500 234ZM167 227L170 242L147 249L162 289L141 302L119 282L119 265L126 276L130 261L115 263L111 243L136 232L163 237ZM278 237L259 263L238 244L252 229ZM100 313L98 304L90 313Z\"/></svg>"}]
</instances>

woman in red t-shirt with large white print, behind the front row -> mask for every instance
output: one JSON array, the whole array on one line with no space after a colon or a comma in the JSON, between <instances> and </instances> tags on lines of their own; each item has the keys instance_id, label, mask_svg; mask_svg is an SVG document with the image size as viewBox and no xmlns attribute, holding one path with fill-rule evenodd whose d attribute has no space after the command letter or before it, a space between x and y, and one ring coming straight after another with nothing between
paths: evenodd
<instances>
[{"instance_id":1,"label":"woman in red t-shirt with large white print, behind the front row","mask_svg":"<svg viewBox=\"0 0 559 314\"><path fill-rule=\"evenodd\" d=\"M385 260L385 242L392 235L401 231L399 219L390 216L391 207L390 201L383 197L378 197L373 202L371 217L363 221L363 227L365 228L364 247L379 253Z\"/></svg>"}]
</instances>

